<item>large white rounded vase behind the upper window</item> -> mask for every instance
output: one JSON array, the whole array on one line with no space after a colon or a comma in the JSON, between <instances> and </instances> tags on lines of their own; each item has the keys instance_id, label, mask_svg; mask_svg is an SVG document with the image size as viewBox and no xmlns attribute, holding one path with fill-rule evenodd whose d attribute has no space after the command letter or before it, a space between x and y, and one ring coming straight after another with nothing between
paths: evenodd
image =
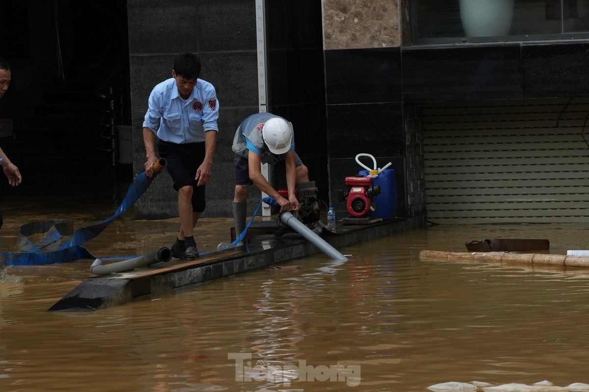
<instances>
[{"instance_id":1,"label":"large white rounded vase behind the upper window","mask_svg":"<svg viewBox=\"0 0 589 392\"><path fill-rule=\"evenodd\" d=\"M466 36L508 35L515 0L460 0L460 19Z\"/></svg>"}]
</instances>

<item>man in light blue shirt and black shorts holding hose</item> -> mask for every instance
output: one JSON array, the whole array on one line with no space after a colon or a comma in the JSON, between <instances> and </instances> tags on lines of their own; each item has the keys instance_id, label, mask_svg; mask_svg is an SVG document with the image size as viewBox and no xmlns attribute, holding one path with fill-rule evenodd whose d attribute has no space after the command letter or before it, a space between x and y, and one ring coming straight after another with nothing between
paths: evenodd
<instances>
[{"instance_id":1,"label":"man in light blue shirt and black shorts holding hose","mask_svg":"<svg viewBox=\"0 0 589 392\"><path fill-rule=\"evenodd\" d=\"M194 226L204 212L217 145L219 101L211 83L198 79L200 59L184 53L174 60L172 78L151 91L143 122L145 174L153 176L155 140L178 192L180 232L171 251L177 259L198 259Z\"/></svg>"}]
</instances>

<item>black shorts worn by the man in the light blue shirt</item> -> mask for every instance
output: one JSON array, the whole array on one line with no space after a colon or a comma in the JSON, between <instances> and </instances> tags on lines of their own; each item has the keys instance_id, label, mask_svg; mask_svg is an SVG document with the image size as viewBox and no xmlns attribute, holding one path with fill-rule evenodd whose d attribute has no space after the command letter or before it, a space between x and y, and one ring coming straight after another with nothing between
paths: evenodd
<instances>
[{"instance_id":1,"label":"black shorts worn by the man in the light blue shirt","mask_svg":"<svg viewBox=\"0 0 589 392\"><path fill-rule=\"evenodd\" d=\"M166 171L172 177L174 189L192 186L192 208L194 212L204 212L206 206L205 185L197 186L198 181L194 180L198 167L204 160L206 152L204 142L176 144L158 140L157 148L160 158L167 160Z\"/></svg>"}]
</instances>

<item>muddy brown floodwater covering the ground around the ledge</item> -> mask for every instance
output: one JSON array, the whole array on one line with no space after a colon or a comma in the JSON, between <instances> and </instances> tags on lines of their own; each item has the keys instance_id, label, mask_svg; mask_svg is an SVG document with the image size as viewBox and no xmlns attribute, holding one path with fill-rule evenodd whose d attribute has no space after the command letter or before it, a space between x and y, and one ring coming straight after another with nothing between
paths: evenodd
<instances>
[{"instance_id":1,"label":"muddy brown floodwater covering the ground around the ledge","mask_svg":"<svg viewBox=\"0 0 589 392\"><path fill-rule=\"evenodd\" d=\"M6 196L4 196L6 197ZM31 220L97 223L117 197L5 200L2 246ZM201 220L201 252L230 219ZM171 246L177 219L133 211L85 243L96 257ZM206 232L206 235L202 234ZM589 249L585 225L431 226L90 313L47 309L93 260L0 277L0 391L428 391L434 384L589 383L589 270L419 260L491 238ZM482 387L479 390L483 390Z\"/></svg>"}]
</instances>

